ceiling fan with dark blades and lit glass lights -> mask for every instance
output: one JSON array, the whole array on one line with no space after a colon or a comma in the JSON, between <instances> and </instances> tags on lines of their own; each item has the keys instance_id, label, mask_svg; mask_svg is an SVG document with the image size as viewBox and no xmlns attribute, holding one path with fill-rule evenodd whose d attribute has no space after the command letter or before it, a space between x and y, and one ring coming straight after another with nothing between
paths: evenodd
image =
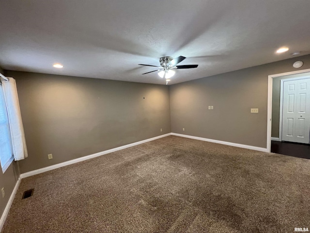
<instances>
[{"instance_id":1,"label":"ceiling fan with dark blades and lit glass lights","mask_svg":"<svg viewBox=\"0 0 310 233\"><path fill-rule=\"evenodd\" d=\"M166 79L166 84L170 81L170 78L174 75L175 71L172 69L190 69L190 68L197 68L198 65L183 65L183 66L176 66L178 63L182 62L186 57L179 56L173 59L173 57L161 57L159 58L160 66L153 66L153 65L145 65L145 64L138 64L140 66L147 66L147 67L157 67L158 69L155 69L150 72L146 72L143 74L152 73L155 71L159 71L158 75L161 78Z\"/></svg>"}]
</instances>

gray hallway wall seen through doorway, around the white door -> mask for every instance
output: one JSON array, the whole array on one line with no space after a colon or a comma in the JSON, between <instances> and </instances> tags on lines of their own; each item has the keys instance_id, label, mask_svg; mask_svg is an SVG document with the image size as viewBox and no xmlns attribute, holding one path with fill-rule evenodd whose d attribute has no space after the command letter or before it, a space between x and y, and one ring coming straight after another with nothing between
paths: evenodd
<instances>
[{"instance_id":1,"label":"gray hallway wall seen through doorway, around the white door","mask_svg":"<svg viewBox=\"0 0 310 233\"><path fill-rule=\"evenodd\" d=\"M272 79L272 126L271 126L272 137L279 137L281 80L304 77L306 75L309 76L309 74L310 73L294 74L294 75L281 76L281 77Z\"/></svg>"}]
</instances>

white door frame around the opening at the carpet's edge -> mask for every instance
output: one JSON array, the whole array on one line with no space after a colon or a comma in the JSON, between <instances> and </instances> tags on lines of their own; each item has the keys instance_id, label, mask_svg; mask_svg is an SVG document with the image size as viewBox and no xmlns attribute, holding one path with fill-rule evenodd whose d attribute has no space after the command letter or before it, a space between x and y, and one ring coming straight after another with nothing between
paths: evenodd
<instances>
[{"instance_id":1,"label":"white door frame around the opening at the carpet's edge","mask_svg":"<svg viewBox=\"0 0 310 233\"><path fill-rule=\"evenodd\" d=\"M310 72L310 69L302 69L302 70L296 70L296 71L291 71L291 72L286 72L286 73L268 75L268 98L267 98L267 151L268 152L270 152L271 150L272 80L273 78L277 78L280 76L301 74L301 73L307 73L307 72ZM282 132L281 132L281 137L282 137Z\"/></svg>"}]
</instances>

